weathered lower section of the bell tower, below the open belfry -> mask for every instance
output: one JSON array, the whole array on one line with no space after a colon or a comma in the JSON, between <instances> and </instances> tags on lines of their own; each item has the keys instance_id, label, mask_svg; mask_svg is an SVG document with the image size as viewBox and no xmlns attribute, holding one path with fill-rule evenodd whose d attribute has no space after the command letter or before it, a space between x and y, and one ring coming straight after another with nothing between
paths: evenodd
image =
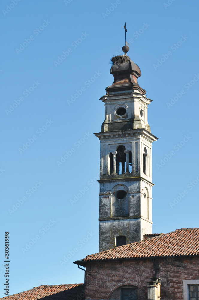
<instances>
[{"instance_id":1,"label":"weathered lower section of the bell tower, below the open belfry","mask_svg":"<svg viewBox=\"0 0 199 300\"><path fill-rule=\"evenodd\" d=\"M117 191L124 190L124 199ZM99 251L115 247L115 238L126 236L126 244L142 240L152 233L151 186L145 181L100 183Z\"/></svg>"}]
</instances>

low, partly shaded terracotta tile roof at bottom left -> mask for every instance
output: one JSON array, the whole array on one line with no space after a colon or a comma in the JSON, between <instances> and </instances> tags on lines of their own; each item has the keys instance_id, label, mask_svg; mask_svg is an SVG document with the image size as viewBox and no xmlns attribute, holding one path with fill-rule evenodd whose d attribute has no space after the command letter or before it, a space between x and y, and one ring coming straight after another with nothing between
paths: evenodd
<instances>
[{"instance_id":1,"label":"low, partly shaded terracotta tile roof at bottom left","mask_svg":"<svg viewBox=\"0 0 199 300\"><path fill-rule=\"evenodd\" d=\"M78 297L79 296L79 297ZM28 291L3 297L3 300L81 300L84 298L84 284L41 285Z\"/></svg>"}]
</instances>

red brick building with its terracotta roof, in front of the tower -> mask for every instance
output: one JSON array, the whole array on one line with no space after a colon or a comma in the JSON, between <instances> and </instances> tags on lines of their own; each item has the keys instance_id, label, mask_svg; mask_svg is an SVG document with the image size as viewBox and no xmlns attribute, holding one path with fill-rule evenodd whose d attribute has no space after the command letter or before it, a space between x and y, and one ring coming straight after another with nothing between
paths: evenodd
<instances>
[{"instance_id":1,"label":"red brick building with its terracotta roof, in front of the tower","mask_svg":"<svg viewBox=\"0 0 199 300\"><path fill-rule=\"evenodd\" d=\"M86 299L196 300L198 255L199 229L182 228L144 235L142 241L88 255L75 263L86 267Z\"/></svg>"}]
</instances>

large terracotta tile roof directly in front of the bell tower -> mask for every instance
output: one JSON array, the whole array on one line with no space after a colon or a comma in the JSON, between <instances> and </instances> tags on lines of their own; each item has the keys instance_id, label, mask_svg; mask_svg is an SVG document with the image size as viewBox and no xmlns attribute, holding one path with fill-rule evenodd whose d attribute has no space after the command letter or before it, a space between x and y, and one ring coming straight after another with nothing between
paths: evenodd
<instances>
[{"instance_id":1,"label":"large terracotta tile roof directly in front of the bell tower","mask_svg":"<svg viewBox=\"0 0 199 300\"><path fill-rule=\"evenodd\" d=\"M160 233L155 237L142 241L87 255L84 259L75 263L82 264L93 260L184 255L199 255L199 228L181 228L169 233Z\"/></svg>"}]
</instances>

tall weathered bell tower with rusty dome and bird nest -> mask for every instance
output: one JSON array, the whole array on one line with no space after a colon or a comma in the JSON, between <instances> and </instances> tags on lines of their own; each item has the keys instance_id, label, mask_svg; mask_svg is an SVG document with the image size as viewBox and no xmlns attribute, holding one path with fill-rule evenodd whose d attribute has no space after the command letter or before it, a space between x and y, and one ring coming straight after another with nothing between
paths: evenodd
<instances>
[{"instance_id":1,"label":"tall weathered bell tower with rusty dome and bird nest","mask_svg":"<svg viewBox=\"0 0 199 300\"><path fill-rule=\"evenodd\" d=\"M99 138L99 251L140 241L152 233L152 143L147 108L138 85L141 70L126 52L111 59L112 85L100 98L105 120Z\"/></svg>"}]
</instances>

